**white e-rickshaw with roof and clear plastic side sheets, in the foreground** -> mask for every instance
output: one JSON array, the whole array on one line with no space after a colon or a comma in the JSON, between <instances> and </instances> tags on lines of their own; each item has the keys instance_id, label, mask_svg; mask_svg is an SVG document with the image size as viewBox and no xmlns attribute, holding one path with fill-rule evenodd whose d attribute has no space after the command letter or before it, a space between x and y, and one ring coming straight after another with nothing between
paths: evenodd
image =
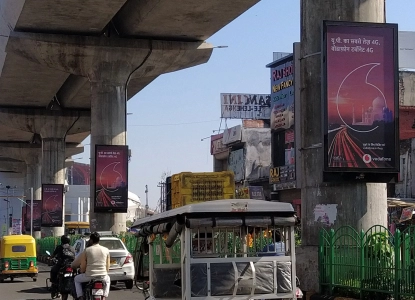
<instances>
[{"instance_id":1,"label":"white e-rickshaw with roof and clear plastic side sheets, in the foreground","mask_svg":"<svg viewBox=\"0 0 415 300\"><path fill-rule=\"evenodd\" d=\"M295 220L289 203L252 199L136 220L137 263L148 252L150 299L296 299Z\"/></svg>"}]
</instances>

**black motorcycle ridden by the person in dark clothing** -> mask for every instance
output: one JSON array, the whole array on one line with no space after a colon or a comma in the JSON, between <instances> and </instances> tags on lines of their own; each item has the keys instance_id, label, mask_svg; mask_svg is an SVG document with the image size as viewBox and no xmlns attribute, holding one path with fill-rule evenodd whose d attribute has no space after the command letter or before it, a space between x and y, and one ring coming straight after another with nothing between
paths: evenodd
<instances>
[{"instance_id":1,"label":"black motorcycle ridden by the person in dark clothing","mask_svg":"<svg viewBox=\"0 0 415 300\"><path fill-rule=\"evenodd\" d=\"M46 251L46 254L50 256L50 252ZM54 258L50 260L49 265L54 265L58 261ZM51 298L56 299L62 297L62 300L67 300L69 295L74 295L74 277L75 272L71 267L70 260L65 260L62 264L62 267L59 269L58 278L56 283L52 283L50 288L48 282L50 283L50 278L46 279L46 287L51 292ZM73 297L74 299L76 297Z\"/></svg>"}]
</instances>

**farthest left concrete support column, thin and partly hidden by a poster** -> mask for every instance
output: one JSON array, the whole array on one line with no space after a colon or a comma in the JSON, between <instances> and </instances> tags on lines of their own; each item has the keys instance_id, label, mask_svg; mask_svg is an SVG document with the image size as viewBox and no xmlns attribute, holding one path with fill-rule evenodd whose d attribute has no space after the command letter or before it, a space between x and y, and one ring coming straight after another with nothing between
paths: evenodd
<instances>
[{"instance_id":1,"label":"farthest left concrete support column, thin and partly hidden by a poster","mask_svg":"<svg viewBox=\"0 0 415 300\"><path fill-rule=\"evenodd\" d=\"M26 203L30 205L31 193L30 188L33 188L33 200L41 200L42 198L42 164L41 154L31 155L26 159L26 184L25 195ZM33 232L34 238L41 238L41 231Z\"/></svg>"}]
</instances>

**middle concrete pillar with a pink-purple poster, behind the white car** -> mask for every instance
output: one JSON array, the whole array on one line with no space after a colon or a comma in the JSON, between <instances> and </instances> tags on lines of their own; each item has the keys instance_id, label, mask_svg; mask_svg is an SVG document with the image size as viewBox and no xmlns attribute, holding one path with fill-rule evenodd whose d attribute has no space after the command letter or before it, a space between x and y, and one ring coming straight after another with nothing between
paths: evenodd
<instances>
[{"instance_id":1,"label":"middle concrete pillar with a pink-purple poster, behind the white car","mask_svg":"<svg viewBox=\"0 0 415 300\"><path fill-rule=\"evenodd\" d=\"M91 230L126 231L125 213L95 213L95 145L126 144L125 85L131 66L116 61L103 62L89 76L91 84ZM105 120L105 125L102 123Z\"/></svg>"}]
</instances>

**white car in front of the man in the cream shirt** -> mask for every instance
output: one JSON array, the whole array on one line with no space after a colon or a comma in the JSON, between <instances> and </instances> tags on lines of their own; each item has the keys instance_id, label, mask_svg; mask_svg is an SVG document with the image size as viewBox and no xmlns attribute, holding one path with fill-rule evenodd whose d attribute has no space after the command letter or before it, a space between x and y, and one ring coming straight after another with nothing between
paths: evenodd
<instances>
[{"instance_id":1,"label":"white car in front of the man in the cream shirt","mask_svg":"<svg viewBox=\"0 0 415 300\"><path fill-rule=\"evenodd\" d=\"M89 237L83 237L77 240L74 244L75 255L78 256L85 250L85 246ZM99 244L108 248L110 252L110 270L108 275L111 278L111 284L116 284L118 281L124 282L127 289L132 289L134 286L134 262L133 256L128 252L127 247L117 237L102 236Z\"/></svg>"}]
</instances>

